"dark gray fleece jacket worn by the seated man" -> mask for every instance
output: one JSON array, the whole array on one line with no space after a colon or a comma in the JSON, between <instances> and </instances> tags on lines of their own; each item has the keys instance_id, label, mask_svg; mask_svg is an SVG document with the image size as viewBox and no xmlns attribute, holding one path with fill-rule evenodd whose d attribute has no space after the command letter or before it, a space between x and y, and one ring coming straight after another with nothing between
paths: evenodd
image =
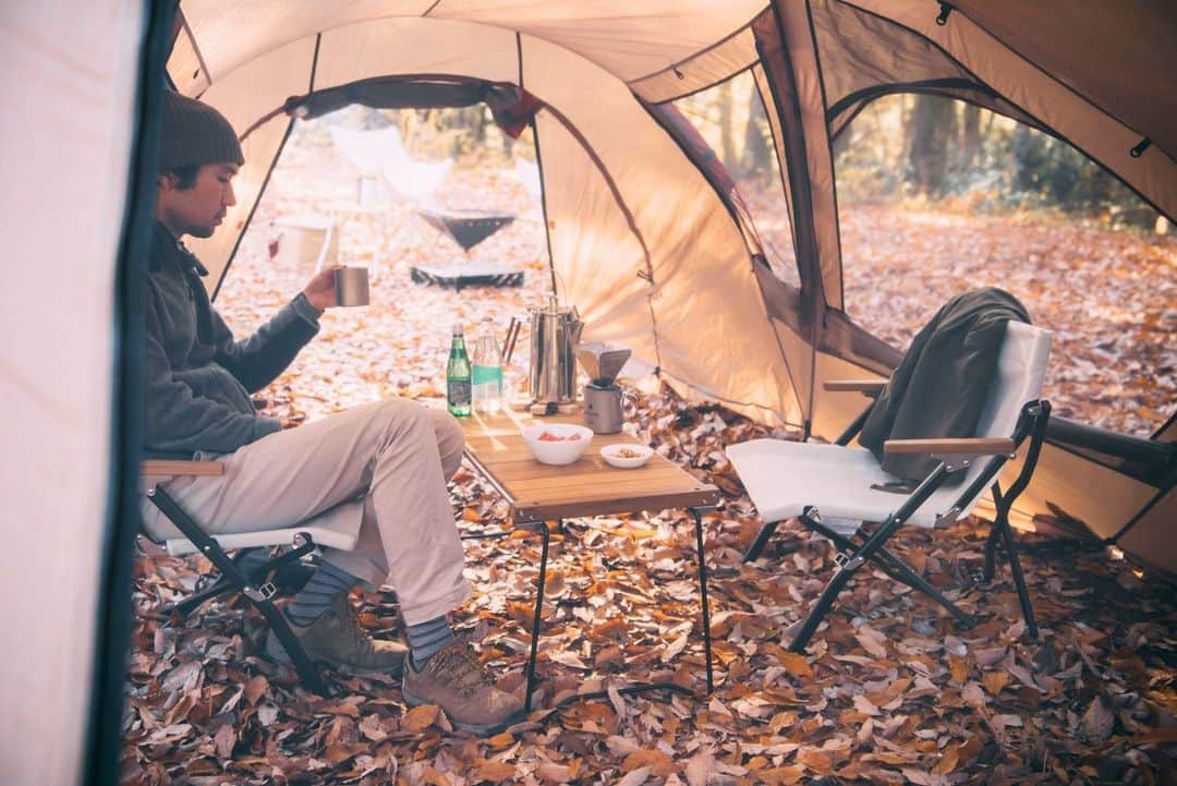
<instances>
[{"instance_id":1,"label":"dark gray fleece jacket worn by the seated man","mask_svg":"<svg viewBox=\"0 0 1177 786\"><path fill-rule=\"evenodd\" d=\"M155 225L145 292L144 447L154 453L231 453L281 428L250 394L268 385L319 332L301 294L257 333L235 341L200 281L204 266Z\"/></svg>"}]
</instances>

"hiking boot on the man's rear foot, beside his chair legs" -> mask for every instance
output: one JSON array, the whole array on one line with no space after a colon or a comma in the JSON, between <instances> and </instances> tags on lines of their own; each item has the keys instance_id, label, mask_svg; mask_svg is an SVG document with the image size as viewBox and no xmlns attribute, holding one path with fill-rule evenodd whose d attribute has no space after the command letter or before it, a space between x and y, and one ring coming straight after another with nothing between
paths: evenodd
<instances>
[{"instance_id":1,"label":"hiking boot on the man's rear foot, beside his chair legs","mask_svg":"<svg viewBox=\"0 0 1177 786\"><path fill-rule=\"evenodd\" d=\"M360 626L355 610L347 602L347 593L340 593L331 608L306 627L295 625L287 617L286 622L294 632L307 657L326 661L335 667L363 672L393 672L401 667L408 647L400 641L379 641ZM273 631L266 638L266 654L284 664L291 657Z\"/></svg>"}]
</instances>

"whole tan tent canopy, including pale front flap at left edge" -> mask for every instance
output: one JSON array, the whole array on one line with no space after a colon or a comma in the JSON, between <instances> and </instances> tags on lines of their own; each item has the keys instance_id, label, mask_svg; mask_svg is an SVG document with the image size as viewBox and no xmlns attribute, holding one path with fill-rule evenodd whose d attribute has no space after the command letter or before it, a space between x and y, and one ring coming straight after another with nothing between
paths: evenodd
<instances>
[{"instance_id":1,"label":"whole tan tent canopy, including pale front flap at left edge","mask_svg":"<svg viewBox=\"0 0 1177 786\"><path fill-rule=\"evenodd\" d=\"M165 62L177 89L239 133L257 124L239 204L194 247L213 282L295 121L271 114L290 96L424 76L510 86L540 101L531 122L553 278L586 338L632 346L684 395L825 437L855 404L822 382L885 373L898 357L844 309L831 140L871 100L915 91L989 107L1071 142L1177 215L1177 9L1165 0L181 0L174 25L173 7L25 2L0 24L0 167L20 195L0 221L25 262L12 291L52 291L58 304L14 298L0 312L9 337L40 339L0 348L4 399L20 413L5 419L4 444L21 446L6 491L22 521L5 551L20 564L0 569L20 620L2 691L19 710L0 730L6 782L113 772L95 757L119 727L111 642L125 646L126 627L104 600L125 600L129 584L133 282ZM799 288L764 264L730 180L667 104L743 72L773 132ZM1165 461L1175 437L1170 424L1156 451L1125 458L1090 429L1056 432L1020 513L1057 506L1177 571L1172 472L1139 461ZM64 465L89 472L62 477ZM62 626L82 644L62 647ZM24 755L45 739L60 742L52 755Z\"/></svg>"}]
</instances>

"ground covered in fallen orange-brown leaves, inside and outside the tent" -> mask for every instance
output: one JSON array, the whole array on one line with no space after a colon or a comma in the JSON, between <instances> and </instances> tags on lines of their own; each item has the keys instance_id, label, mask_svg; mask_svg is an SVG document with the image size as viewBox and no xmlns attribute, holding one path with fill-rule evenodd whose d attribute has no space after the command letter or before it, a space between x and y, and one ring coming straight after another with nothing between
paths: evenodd
<instances>
[{"instance_id":1,"label":"ground covered in fallen orange-brown leaves, inside and outside the tent","mask_svg":"<svg viewBox=\"0 0 1177 786\"><path fill-rule=\"evenodd\" d=\"M313 169L320 173L318 181L308 187L306 172L319 165L312 153L300 152L305 149L314 151L294 146L285 168L275 172L255 231L220 294L220 309L241 333L310 275L305 267L268 259L268 222L338 205L354 186L353 173L320 166ZM408 284L408 265L457 258L457 248L398 213L392 226L384 227L388 259L383 259L375 251L381 242L375 218L352 214L343 225L340 251L345 261L375 264L373 304L325 315L320 337L262 393L270 413L295 425L380 397L439 395L452 321L468 325L488 314L501 328L511 315L540 302L550 279L537 211L505 173L459 168L451 174L453 206L463 206L458 198L474 189L480 206L512 206L520 217L472 255L510 260L525 271L526 286L458 295ZM1145 304L1139 308L1146 313L1123 317L1136 326L1132 329L1171 332L1177 319L1171 311L1172 242L1057 224L1006 226L995 219L885 208L858 214L858 224L844 215L843 231L866 238L863 247L889 248L917 225L951 226L955 240L927 239L906 252L910 267L889 268L887 275L902 275L911 286L926 284L922 260L943 260L960 244L953 264L962 269L980 254L1039 260L1064 255L1065 265L1044 264L1032 274L1018 274L1030 275L1019 280L1035 285L1031 313L1042 313L1045 304L1051 317L1038 321L1056 320L1066 333L1055 352L1058 387L1069 387L1063 385L1065 374L1079 373L1059 358L1078 358L1096 371L1109 366L1092 352L1117 353L1124 327L1116 315L1137 308L1133 304ZM1022 245L1008 248L1018 241L991 240L1002 233L1020 238ZM1121 265L1116 260L1125 254L1143 260L1136 267L1151 271L1149 278L1133 284L1130 275L1122 281L1113 274ZM1090 273L1100 286L1116 287L1115 297L1105 299L1115 313L1075 313L1053 300L1059 287L1051 277L1077 275L1089 264L1093 271L1115 268ZM1115 284L1108 284L1111 279ZM932 286L938 286L935 280ZM876 297L869 289L852 293L850 301ZM1158 298L1163 305L1157 305ZM897 342L935 308L884 298L882 289L875 305L886 315L880 321L893 331L883 335ZM1105 327L1109 322L1111 328ZM1110 344L1084 331L1104 331ZM1137 411L1171 407L1173 371L1171 358L1162 357L1171 348L1161 340L1153 344L1159 361L1128 359L1151 364L1148 373L1136 375L1149 378L1151 387L1129 384L1130 375L1121 374L1115 384L1129 389L1115 400L1130 404L1092 407L1089 399L1110 382L1091 373L1084 380L1090 387L1066 405L1070 412L1092 413L1089 421L1102 418L1104 425L1128 431L1142 429L1130 418L1155 427L1153 418ZM517 354L517 362L521 359L523 353ZM1122 360L1117 354L1117 362ZM518 384L519 368L508 377ZM213 573L206 561L142 557L135 565L124 782L1173 782L1177 604L1171 584L1110 559L1091 544L1019 535L1042 625L1042 635L1032 640L1024 635L1009 571L1000 569L992 585L978 582L988 522L967 519L935 533L903 532L895 551L980 617L977 627L953 628L938 606L867 569L843 595L810 652L789 653L789 628L829 578L832 552L785 525L760 560L742 564L760 522L724 446L769 432L716 406L687 406L665 389L634 394L626 414L636 433L724 493L722 509L705 519L716 642L717 685L711 695L704 693L694 533L681 511L572 519L553 534L539 708L490 739L454 733L435 707L410 710L393 678L328 672L335 695L308 693L290 668L260 654L265 625L245 604L208 604L185 622L168 618L167 604ZM467 469L455 479L452 500L463 529L504 524L501 500ZM454 621L480 642L481 657L508 690L523 690L537 566L533 538L467 541L476 598ZM397 634L392 590L357 594L353 601L370 630L381 637ZM696 695L658 700L612 691L604 700L548 708L586 686L609 690L645 678L674 680Z\"/></svg>"}]
</instances>

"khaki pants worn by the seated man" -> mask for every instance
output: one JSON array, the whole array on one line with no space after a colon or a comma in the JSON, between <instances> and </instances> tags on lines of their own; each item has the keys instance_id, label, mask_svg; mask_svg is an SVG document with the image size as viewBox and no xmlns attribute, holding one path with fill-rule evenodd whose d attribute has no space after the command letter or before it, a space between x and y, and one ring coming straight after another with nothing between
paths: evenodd
<instances>
[{"instance_id":1,"label":"khaki pants worn by the seated man","mask_svg":"<svg viewBox=\"0 0 1177 786\"><path fill-rule=\"evenodd\" d=\"M392 585L405 622L415 625L471 595L446 491L463 447L447 412L391 399L218 457L219 478L175 478L164 487L210 534L292 527L346 514L363 498L355 549L325 548L324 559L370 588ZM146 500L144 518L154 537L182 537Z\"/></svg>"}]
</instances>

